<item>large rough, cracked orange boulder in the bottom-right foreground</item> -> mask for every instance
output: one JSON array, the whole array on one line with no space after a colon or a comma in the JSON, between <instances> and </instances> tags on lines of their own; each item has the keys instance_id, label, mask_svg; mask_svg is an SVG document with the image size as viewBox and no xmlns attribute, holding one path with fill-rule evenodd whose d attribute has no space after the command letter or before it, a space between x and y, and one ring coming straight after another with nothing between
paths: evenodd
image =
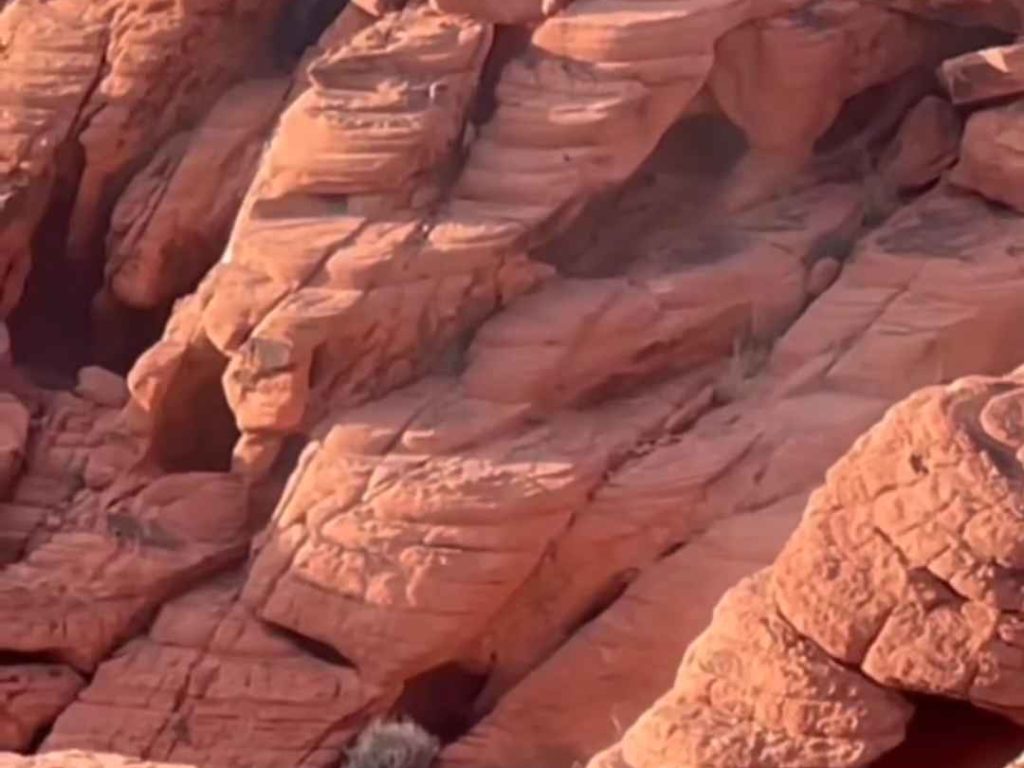
<instances>
[{"instance_id":1,"label":"large rough, cracked orange boulder in the bottom-right foreground","mask_svg":"<svg viewBox=\"0 0 1024 768\"><path fill-rule=\"evenodd\" d=\"M878 685L1018 718L1022 397L1014 377L973 377L890 410L770 570L719 604L672 691L593 764L671 750L681 765L867 765L909 712Z\"/></svg>"}]
</instances>

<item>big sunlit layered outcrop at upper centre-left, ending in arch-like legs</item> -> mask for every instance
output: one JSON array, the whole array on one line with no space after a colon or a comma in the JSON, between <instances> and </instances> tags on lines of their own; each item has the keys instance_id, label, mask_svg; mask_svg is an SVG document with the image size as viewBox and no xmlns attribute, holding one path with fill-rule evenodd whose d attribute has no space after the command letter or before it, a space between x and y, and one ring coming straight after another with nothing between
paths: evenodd
<instances>
[{"instance_id":1,"label":"big sunlit layered outcrop at upper centre-left, ending in arch-like legs","mask_svg":"<svg viewBox=\"0 0 1024 768\"><path fill-rule=\"evenodd\" d=\"M616 8L618 15L609 15ZM772 9L758 6L757 13ZM441 161L461 131L487 31L463 16L415 8L383 17L314 63L314 88L282 122L244 214L248 219L236 230L230 262L200 291L208 298L182 310L188 312L185 338L206 337L229 355L225 387L243 431L240 465L252 465L258 474L282 434L315 422L330 402L357 401L408 382L422 369L424 352L528 289L536 268L522 257L535 240L531 232L542 225L551 231L564 227L589 196L635 170L699 91L715 38L752 14L751 6L721 0L701 14L672 2L642 9L591 2L549 18L535 32L529 52L503 70L495 117L471 144L450 199L426 218L422 237L419 222L433 187L414 172L423 162ZM384 46L377 36L391 26L402 32ZM435 39L434 30L444 36ZM446 53L418 72L414 62L439 40L458 56ZM692 47L679 49L680 40ZM342 98L342 86L359 77L349 62L371 54L393 61L416 87L416 109L429 103L431 93L440 99L427 112L436 116L438 128L427 122L424 130L378 146L380 128L368 122L360 124L367 142L361 155L332 153L330 163L309 165L317 146L326 151L326 142L341 139L317 126L309 111L318 101ZM564 68L564 58L579 66ZM432 87L441 74L454 79ZM564 99L564 106L552 111ZM359 105L348 96L342 102ZM289 136L309 131L314 141L302 142L301 150L297 140L289 144ZM417 160L411 162L407 153L414 150ZM322 201L324 215L316 219L301 199L311 193ZM267 218L263 212L274 206L294 213ZM293 256L287 268L280 259L271 261L286 231L304 231L309 243L309 253ZM288 280L306 288L290 292ZM241 295L249 299L244 308ZM310 323L312 316L321 319ZM409 332L413 327L418 333ZM372 339L387 342L370 345ZM175 360L189 343L197 342L168 338L137 367L137 397L145 410L159 414L166 398L175 397ZM279 364L261 351L271 348L279 350L272 355ZM313 357L317 375L310 376Z\"/></svg>"}]
</instances>

